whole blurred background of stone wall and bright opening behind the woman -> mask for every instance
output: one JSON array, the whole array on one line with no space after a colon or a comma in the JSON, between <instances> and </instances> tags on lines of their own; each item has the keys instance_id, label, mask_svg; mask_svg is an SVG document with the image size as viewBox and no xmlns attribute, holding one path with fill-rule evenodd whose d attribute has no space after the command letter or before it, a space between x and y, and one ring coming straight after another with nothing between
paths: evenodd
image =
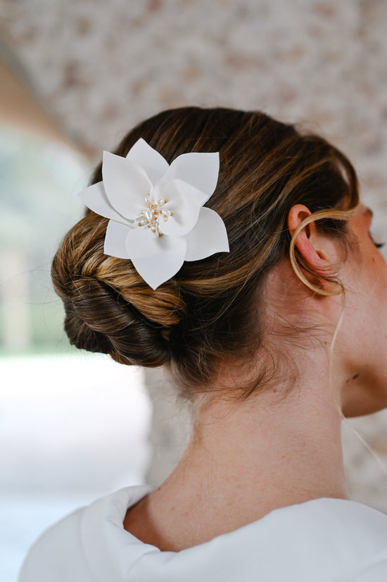
<instances>
[{"instance_id":1,"label":"whole blurred background of stone wall and bright opening behind the woman","mask_svg":"<svg viewBox=\"0 0 387 582\"><path fill-rule=\"evenodd\" d=\"M161 109L262 109L348 154L386 240L386 27L383 0L0 0L1 581L74 507L159 483L186 440L161 371L63 336L50 262L101 151ZM343 441L353 499L387 512L387 414Z\"/></svg>"}]
</instances>

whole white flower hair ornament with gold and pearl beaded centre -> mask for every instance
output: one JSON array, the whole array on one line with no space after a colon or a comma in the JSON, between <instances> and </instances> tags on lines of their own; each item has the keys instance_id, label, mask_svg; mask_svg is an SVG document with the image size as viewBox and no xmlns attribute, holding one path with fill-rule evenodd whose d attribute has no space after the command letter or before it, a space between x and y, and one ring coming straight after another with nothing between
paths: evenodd
<instances>
[{"instance_id":1,"label":"whole white flower hair ornament with gold and pearl beaded centre","mask_svg":"<svg viewBox=\"0 0 387 582\"><path fill-rule=\"evenodd\" d=\"M218 175L218 152L182 154L169 165L141 138L126 158L103 151L103 180L80 197L90 210L110 218L103 252L130 259L155 290L184 261L229 252L222 218L203 208Z\"/></svg>"}]
</instances>

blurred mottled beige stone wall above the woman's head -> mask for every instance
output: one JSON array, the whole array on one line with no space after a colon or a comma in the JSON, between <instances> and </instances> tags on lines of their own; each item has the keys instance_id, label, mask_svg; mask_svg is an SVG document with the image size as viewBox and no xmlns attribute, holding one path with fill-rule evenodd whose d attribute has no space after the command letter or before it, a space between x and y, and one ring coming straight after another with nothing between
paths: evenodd
<instances>
[{"instance_id":1,"label":"blurred mottled beige stone wall above the woman's head","mask_svg":"<svg viewBox=\"0 0 387 582\"><path fill-rule=\"evenodd\" d=\"M342 147L387 216L384 0L1 0L3 28L66 132L96 159L166 107L226 104L303 123ZM357 427L387 459L387 416ZM345 430L355 498L387 476Z\"/></svg>"}]
</instances>

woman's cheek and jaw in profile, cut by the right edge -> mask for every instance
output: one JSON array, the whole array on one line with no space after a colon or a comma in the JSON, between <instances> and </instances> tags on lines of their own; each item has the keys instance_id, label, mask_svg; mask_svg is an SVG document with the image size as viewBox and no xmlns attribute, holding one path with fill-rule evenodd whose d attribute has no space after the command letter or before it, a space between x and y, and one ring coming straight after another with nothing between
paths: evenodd
<instances>
[{"instance_id":1,"label":"woman's cheek and jaw in profile, cut by the right edge","mask_svg":"<svg viewBox=\"0 0 387 582\"><path fill-rule=\"evenodd\" d=\"M343 269L348 293L338 347L343 344L341 349L346 349L341 356L345 416L362 416L387 407L387 268L369 234L371 223L372 212L360 206L350 221L359 239L359 256L353 256Z\"/></svg>"}]
</instances>

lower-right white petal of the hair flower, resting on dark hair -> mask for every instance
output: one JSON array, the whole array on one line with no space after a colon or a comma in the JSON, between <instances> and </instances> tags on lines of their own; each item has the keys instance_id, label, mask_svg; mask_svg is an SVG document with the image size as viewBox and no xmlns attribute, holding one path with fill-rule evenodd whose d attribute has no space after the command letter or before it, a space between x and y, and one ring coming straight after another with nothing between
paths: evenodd
<instances>
[{"instance_id":1,"label":"lower-right white petal of the hair flower, resting on dark hair","mask_svg":"<svg viewBox=\"0 0 387 582\"><path fill-rule=\"evenodd\" d=\"M217 252L229 252L227 230L219 214L201 208L198 222L186 235L186 261L200 261Z\"/></svg>"}]
</instances>

